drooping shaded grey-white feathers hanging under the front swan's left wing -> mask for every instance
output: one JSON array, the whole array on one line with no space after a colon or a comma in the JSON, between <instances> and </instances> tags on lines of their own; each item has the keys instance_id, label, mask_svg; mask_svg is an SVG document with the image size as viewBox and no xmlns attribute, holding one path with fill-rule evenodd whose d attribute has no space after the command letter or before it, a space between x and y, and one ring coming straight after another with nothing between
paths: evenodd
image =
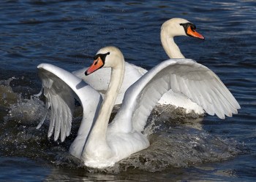
<instances>
[{"instance_id":1,"label":"drooping shaded grey-white feathers hanging under the front swan's left wing","mask_svg":"<svg viewBox=\"0 0 256 182\"><path fill-rule=\"evenodd\" d=\"M39 69L39 77L42 79L43 94L46 98L45 109L51 108L50 125L48 138L54 133L54 141L57 141L61 135L61 141L70 135L72 114L74 110L74 95L72 90L59 77ZM38 124L37 129L42 126L44 118Z\"/></svg>"}]
</instances>

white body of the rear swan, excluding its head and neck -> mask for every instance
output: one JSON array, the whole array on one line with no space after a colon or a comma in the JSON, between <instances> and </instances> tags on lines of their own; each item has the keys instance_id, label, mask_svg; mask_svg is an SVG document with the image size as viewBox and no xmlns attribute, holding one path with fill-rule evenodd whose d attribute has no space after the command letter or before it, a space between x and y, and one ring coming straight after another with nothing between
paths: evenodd
<instances>
[{"instance_id":1,"label":"white body of the rear swan, excluding its head and neck","mask_svg":"<svg viewBox=\"0 0 256 182\"><path fill-rule=\"evenodd\" d=\"M94 74L89 76L84 76L88 68L82 68L78 71L74 71L72 74L83 79L86 83L90 84L95 90L100 92L104 97L106 90L108 89L108 84L110 83L110 73L111 68L100 68L95 71ZM118 92L115 104L121 104L124 99L124 93L127 89L134 84L138 79L140 79L143 74L146 74L146 69L135 66L131 63L125 62L125 72L124 72L124 82L121 85L121 89ZM180 106L186 109L189 113L195 111L197 114L203 114L203 108L193 103L191 100L184 97L179 93L173 94L170 90L162 95L162 98L158 101L159 104L173 104L175 106Z\"/></svg>"}]
</instances>

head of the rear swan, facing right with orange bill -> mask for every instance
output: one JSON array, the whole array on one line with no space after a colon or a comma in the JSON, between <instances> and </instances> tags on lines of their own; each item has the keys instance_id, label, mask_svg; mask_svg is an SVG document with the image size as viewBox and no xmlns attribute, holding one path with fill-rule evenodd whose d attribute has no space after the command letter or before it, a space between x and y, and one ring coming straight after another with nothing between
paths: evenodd
<instances>
[{"instance_id":1,"label":"head of the rear swan, facing right with orange bill","mask_svg":"<svg viewBox=\"0 0 256 182\"><path fill-rule=\"evenodd\" d=\"M193 23L183 18L172 18L162 24L161 34L167 36L192 36L198 39L205 39L200 33L195 31Z\"/></svg>"}]
</instances>

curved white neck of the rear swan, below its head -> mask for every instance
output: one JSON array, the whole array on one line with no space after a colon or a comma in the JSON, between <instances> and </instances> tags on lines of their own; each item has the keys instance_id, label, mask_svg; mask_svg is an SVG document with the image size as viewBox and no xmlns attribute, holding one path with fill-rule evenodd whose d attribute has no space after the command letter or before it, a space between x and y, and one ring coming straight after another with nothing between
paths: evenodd
<instances>
[{"instance_id":1,"label":"curved white neck of the rear swan, below its head","mask_svg":"<svg viewBox=\"0 0 256 182\"><path fill-rule=\"evenodd\" d=\"M169 58L185 58L184 55L181 54L177 44L175 43L173 36L168 35L165 30L161 31L161 42L162 47Z\"/></svg>"}]
</instances>

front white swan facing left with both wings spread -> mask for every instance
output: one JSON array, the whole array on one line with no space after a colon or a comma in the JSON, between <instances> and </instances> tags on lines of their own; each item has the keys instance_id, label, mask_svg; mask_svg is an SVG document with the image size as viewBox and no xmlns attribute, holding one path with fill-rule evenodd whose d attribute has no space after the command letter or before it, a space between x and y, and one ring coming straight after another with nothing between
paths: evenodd
<instances>
[{"instance_id":1,"label":"front white swan facing left with both wings spread","mask_svg":"<svg viewBox=\"0 0 256 182\"><path fill-rule=\"evenodd\" d=\"M221 119L225 119L225 115L237 114L240 108L227 87L209 68L190 59L170 59L147 71L127 89L121 108L109 124L118 90L124 82L125 61L118 48L100 49L84 73L88 76L101 68L111 68L110 83L103 100L97 90L68 71L47 63L38 68L47 98L46 108L51 106L52 112L48 137L54 130L54 139L61 135L63 141L70 133L74 101L69 100L65 87L78 96L83 106L83 119L69 152L88 167L110 167L146 149L150 143L143 135L143 129L151 110L168 90L186 95L208 114L216 114ZM63 81L59 82L59 79Z\"/></svg>"}]
</instances>

